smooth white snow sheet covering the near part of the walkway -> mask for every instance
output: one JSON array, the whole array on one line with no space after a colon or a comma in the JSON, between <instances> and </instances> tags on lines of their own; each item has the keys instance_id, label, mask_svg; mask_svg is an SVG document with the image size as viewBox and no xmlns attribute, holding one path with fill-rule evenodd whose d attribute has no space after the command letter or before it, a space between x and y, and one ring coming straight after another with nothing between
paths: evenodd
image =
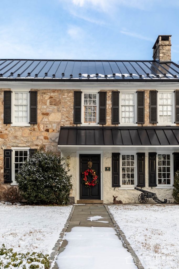
<instances>
[{"instance_id":1,"label":"smooth white snow sheet covering the near part of the walkway","mask_svg":"<svg viewBox=\"0 0 179 269\"><path fill-rule=\"evenodd\" d=\"M113 228L72 228L64 238L68 244L56 260L59 269L137 269L115 233Z\"/></svg>"}]
</instances>

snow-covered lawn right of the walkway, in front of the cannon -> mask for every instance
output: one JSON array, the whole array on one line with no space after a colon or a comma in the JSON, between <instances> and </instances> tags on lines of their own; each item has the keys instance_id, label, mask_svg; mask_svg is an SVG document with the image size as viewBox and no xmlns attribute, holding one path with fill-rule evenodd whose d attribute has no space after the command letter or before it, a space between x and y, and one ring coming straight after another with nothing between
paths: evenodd
<instances>
[{"instance_id":1,"label":"snow-covered lawn right of the walkway, in front of the cannon","mask_svg":"<svg viewBox=\"0 0 179 269\"><path fill-rule=\"evenodd\" d=\"M178 269L179 206L108 206L145 269Z\"/></svg>"}]
</instances>

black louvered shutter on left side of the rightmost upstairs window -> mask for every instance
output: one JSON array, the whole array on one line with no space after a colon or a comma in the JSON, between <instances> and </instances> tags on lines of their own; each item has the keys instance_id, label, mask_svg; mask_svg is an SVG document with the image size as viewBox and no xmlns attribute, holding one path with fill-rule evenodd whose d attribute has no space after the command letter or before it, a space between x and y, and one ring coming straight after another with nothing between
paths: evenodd
<instances>
[{"instance_id":1,"label":"black louvered shutter on left side of the rightmost upstairs window","mask_svg":"<svg viewBox=\"0 0 179 269\"><path fill-rule=\"evenodd\" d=\"M157 123L157 91L150 91L150 123Z\"/></svg>"}]
</instances>

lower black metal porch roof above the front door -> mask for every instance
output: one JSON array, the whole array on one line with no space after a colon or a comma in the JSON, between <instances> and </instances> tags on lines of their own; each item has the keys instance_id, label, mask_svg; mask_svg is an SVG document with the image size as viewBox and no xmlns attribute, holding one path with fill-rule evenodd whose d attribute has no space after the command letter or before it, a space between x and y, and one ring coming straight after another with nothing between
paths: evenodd
<instances>
[{"instance_id":1,"label":"lower black metal porch roof above the front door","mask_svg":"<svg viewBox=\"0 0 179 269\"><path fill-rule=\"evenodd\" d=\"M60 127L58 145L179 145L179 128Z\"/></svg>"}]
</instances>

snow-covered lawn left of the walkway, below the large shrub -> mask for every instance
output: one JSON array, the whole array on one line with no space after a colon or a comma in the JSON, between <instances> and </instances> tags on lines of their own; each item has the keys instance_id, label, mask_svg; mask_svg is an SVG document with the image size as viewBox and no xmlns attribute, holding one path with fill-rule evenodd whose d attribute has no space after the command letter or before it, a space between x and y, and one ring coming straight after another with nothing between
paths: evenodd
<instances>
[{"instance_id":1,"label":"snow-covered lawn left of the walkway, below the large shrub","mask_svg":"<svg viewBox=\"0 0 179 269\"><path fill-rule=\"evenodd\" d=\"M0 246L51 254L72 206L0 205Z\"/></svg>"}]
</instances>

